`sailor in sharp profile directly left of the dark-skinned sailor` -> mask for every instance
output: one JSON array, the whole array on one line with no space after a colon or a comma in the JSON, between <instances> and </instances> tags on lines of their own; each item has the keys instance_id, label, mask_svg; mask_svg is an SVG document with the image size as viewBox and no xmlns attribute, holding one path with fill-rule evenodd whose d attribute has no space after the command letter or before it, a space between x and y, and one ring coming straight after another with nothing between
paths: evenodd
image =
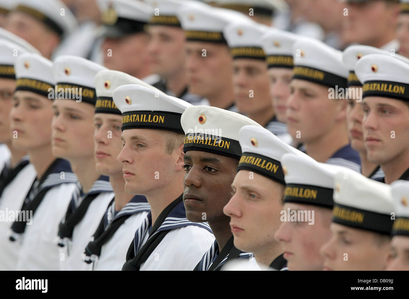
<instances>
[{"instance_id":1,"label":"sailor in sharp profile directly left of the dark-skinned sailor","mask_svg":"<svg viewBox=\"0 0 409 299\"><path fill-rule=\"evenodd\" d=\"M125 191L146 196L151 212L135 232L122 270L192 270L213 243L208 223L186 219L180 117L191 104L141 85L114 91L122 112Z\"/></svg>"}]
</instances>

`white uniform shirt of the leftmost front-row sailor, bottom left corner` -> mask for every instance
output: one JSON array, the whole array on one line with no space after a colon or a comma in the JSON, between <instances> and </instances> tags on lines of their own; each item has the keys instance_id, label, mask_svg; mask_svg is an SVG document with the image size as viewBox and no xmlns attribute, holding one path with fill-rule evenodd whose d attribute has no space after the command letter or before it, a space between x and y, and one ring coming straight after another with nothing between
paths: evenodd
<instances>
[{"instance_id":1,"label":"white uniform shirt of the leftmost front-row sailor, bottom left corner","mask_svg":"<svg viewBox=\"0 0 409 299\"><path fill-rule=\"evenodd\" d=\"M13 219L7 217L10 212L20 211L27 193L30 190L36 170L32 164L25 166L17 176L4 188L0 197L0 212L6 217L0 221L0 270L16 270L20 242L11 242Z\"/></svg>"}]
</instances>

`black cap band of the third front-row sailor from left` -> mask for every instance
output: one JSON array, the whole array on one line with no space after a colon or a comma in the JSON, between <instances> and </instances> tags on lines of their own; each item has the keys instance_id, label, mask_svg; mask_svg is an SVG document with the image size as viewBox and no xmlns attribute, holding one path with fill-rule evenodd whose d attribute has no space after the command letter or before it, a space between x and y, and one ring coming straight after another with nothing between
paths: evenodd
<instances>
[{"instance_id":1,"label":"black cap band of the third front-row sailor from left","mask_svg":"<svg viewBox=\"0 0 409 299\"><path fill-rule=\"evenodd\" d=\"M56 99L66 100L78 100L81 97L81 101L95 105L97 96L95 94L95 88L85 85L74 85L72 83L58 82L55 91Z\"/></svg>"}]
</instances>

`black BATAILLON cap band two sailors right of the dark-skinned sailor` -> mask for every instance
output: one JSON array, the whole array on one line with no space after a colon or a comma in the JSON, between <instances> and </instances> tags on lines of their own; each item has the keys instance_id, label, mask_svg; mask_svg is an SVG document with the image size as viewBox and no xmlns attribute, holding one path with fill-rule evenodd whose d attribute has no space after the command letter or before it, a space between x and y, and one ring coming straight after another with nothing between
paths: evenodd
<instances>
[{"instance_id":1,"label":"black BATAILLON cap band two sailors right of the dark-skinned sailor","mask_svg":"<svg viewBox=\"0 0 409 299\"><path fill-rule=\"evenodd\" d=\"M284 203L317 205L332 209L334 190L313 185L287 184L284 189Z\"/></svg>"}]
</instances>

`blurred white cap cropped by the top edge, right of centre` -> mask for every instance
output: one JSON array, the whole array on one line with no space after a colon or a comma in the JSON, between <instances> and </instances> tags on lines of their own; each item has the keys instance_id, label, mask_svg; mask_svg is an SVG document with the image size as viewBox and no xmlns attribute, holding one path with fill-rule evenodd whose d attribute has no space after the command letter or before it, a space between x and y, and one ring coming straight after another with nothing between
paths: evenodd
<instances>
[{"instance_id":1,"label":"blurred white cap cropped by the top edge, right of centre","mask_svg":"<svg viewBox=\"0 0 409 299\"><path fill-rule=\"evenodd\" d=\"M254 16L273 16L276 13L288 11L289 6L284 0L216 0L220 7L234 9L241 13L249 14L253 11Z\"/></svg>"}]
</instances>

